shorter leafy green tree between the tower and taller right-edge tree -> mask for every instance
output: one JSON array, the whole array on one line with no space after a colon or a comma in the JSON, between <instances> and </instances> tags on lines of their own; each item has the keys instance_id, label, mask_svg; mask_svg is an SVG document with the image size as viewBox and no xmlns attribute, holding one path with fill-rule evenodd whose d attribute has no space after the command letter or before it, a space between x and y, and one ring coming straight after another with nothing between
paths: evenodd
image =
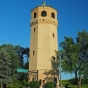
<instances>
[{"instance_id":1,"label":"shorter leafy green tree between the tower and taller right-edge tree","mask_svg":"<svg viewBox=\"0 0 88 88\"><path fill-rule=\"evenodd\" d=\"M64 63L62 63L62 68L65 72L75 73L75 79L77 82L77 71L78 71L78 51L77 44L73 41L72 37L64 37L65 41L61 42L64 53Z\"/></svg>"}]
</instances>

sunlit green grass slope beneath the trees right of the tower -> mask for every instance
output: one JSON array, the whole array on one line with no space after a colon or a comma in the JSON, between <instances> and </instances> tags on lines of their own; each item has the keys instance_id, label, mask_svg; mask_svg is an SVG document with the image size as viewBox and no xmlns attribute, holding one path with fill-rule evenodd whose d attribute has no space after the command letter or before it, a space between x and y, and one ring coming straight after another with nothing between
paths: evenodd
<instances>
[{"instance_id":1,"label":"sunlit green grass slope beneath the trees right of the tower","mask_svg":"<svg viewBox=\"0 0 88 88\"><path fill-rule=\"evenodd\" d=\"M73 85L68 80L62 80L62 85L65 86L65 88L78 88L78 85ZM81 88L88 88L88 84L83 84Z\"/></svg>"}]
</instances>

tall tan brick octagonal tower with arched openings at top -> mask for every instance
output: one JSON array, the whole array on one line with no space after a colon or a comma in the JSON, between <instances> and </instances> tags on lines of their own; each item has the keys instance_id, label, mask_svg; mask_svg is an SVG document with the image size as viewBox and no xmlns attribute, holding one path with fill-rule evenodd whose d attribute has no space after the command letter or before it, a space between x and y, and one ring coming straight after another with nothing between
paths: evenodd
<instances>
[{"instance_id":1,"label":"tall tan brick octagonal tower with arched openings at top","mask_svg":"<svg viewBox=\"0 0 88 88\"><path fill-rule=\"evenodd\" d=\"M38 80L44 84L58 78L52 74L51 60L55 61L55 51L58 50L57 39L57 10L47 6L37 6L31 10L31 40L29 71L38 70ZM29 79L36 79L34 73L29 74Z\"/></svg>"}]
</instances>

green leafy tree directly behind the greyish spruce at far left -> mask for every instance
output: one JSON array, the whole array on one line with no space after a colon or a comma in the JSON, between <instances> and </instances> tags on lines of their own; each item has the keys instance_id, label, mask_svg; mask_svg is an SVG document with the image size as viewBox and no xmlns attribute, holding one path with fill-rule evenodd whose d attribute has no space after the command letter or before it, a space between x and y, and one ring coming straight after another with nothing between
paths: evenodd
<instances>
[{"instance_id":1,"label":"green leafy tree directly behind the greyish spruce at far left","mask_svg":"<svg viewBox=\"0 0 88 88\"><path fill-rule=\"evenodd\" d=\"M12 44L3 44L0 46L0 48L4 48L6 52L8 52L10 58L11 58L11 74L10 74L10 79L11 82L17 81L17 72L16 69L18 67L21 67L21 60L18 55L19 48L17 46L13 46Z\"/></svg>"}]
</instances>

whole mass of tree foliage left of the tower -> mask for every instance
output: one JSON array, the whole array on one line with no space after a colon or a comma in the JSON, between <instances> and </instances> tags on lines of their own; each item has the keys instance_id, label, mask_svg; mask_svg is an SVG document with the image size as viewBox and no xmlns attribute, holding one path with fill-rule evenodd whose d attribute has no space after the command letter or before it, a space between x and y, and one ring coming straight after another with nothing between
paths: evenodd
<instances>
[{"instance_id":1,"label":"whole mass of tree foliage left of the tower","mask_svg":"<svg viewBox=\"0 0 88 88\"><path fill-rule=\"evenodd\" d=\"M9 82L21 82L27 74L17 73L17 68L28 68L29 48L19 45L3 44L0 46L0 81L4 84ZM24 55L27 64L24 63ZM12 84L11 84L12 85Z\"/></svg>"}]
</instances>

